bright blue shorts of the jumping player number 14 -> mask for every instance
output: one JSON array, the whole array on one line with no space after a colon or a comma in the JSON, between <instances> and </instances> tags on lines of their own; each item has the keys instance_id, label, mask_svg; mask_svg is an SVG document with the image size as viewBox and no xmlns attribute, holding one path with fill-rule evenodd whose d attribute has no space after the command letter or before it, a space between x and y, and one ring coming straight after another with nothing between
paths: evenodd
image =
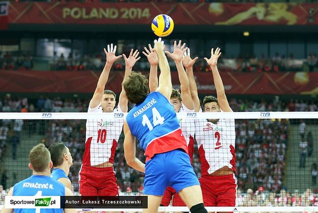
<instances>
[{"instance_id":1,"label":"bright blue shorts of the jumping player number 14","mask_svg":"<svg viewBox=\"0 0 318 213\"><path fill-rule=\"evenodd\" d=\"M190 163L182 150L156 154L146 162L144 192L147 195L163 195L167 186L177 192L194 185L200 185Z\"/></svg>"}]
</instances>

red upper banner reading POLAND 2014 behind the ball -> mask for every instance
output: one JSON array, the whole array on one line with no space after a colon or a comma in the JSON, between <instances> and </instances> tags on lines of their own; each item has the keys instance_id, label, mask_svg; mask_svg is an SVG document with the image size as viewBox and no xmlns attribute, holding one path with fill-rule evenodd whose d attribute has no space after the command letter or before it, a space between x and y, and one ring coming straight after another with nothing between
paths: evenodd
<instances>
[{"instance_id":1,"label":"red upper banner reading POLAND 2014 behind the ball","mask_svg":"<svg viewBox=\"0 0 318 213\"><path fill-rule=\"evenodd\" d=\"M10 24L147 24L158 14L175 25L317 25L318 4L13 2Z\"/></svg>"}]
</instances>

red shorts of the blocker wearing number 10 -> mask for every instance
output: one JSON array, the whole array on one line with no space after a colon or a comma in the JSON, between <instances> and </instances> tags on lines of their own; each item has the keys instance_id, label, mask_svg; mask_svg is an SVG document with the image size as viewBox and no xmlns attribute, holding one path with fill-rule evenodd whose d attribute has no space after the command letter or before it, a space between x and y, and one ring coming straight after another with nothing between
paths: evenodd
<instances>
[{"instance_id":1,"label":"red shorts of the blocker wearing number 10","mask_svg":"<svg viewBox=\"0 0 318 213\"><path fill-rule=\"evenodd\" d=\"M113 167L85 167L79 171L81 196L117 196L117 178Z\"/></svg>"}]
</instances>

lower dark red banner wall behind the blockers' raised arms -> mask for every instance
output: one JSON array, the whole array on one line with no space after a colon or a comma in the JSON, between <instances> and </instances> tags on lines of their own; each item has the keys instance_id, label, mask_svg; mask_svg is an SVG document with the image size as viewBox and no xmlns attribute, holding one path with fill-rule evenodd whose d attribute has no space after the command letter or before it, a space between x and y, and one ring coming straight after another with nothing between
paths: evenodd
<instances>
[{"instance_id":1,"label":"lower dark red banner wall behind the blockers' raised arms","mask_svg":"<svg viewBox=\"0 0 318 213\"><path fill-rule=\"evenodd\" d=\"M100 73L90 71L1 71L0 92L92 93ZM178 73L172 72L174 88ZM227 94L318 94L318 73L221 73ZM121 91L124 72L112 72L107 88ZM211 73L194 73L200 94L215 93Z\"/></svg>"}]
</instances>

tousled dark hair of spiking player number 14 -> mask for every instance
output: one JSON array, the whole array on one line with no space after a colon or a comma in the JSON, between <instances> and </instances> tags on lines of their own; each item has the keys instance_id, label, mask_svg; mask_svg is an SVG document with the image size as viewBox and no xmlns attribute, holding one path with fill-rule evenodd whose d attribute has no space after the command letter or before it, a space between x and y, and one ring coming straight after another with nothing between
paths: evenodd
<instances>
[{"instance_id":1,"label":"tousled dark hair of spiking player number 14","mask_svg":"<svg viewBox=\"0 0 318 213\"><path fill-rule=\"evenodd\" d=\"M149 94L148 80L141 73L132 72L123 82L123 87L129 102L143 102Z\"/></svg>"}]
</instances>

